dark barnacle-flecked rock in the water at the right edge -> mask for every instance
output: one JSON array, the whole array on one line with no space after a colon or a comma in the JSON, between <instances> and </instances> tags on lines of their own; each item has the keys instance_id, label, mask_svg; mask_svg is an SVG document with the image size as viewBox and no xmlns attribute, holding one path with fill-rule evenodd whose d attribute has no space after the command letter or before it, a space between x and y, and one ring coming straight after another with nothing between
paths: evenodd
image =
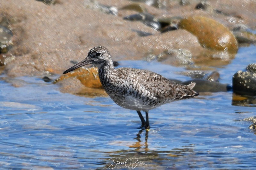
<instances>
[{"instance_id":1,"label":"dark barnacle-flecked rock in the water at the right edge","mask_svg":"<svg viewBox=\"0 0 256 170\"><path fill-rule=\"evenodd\" d=\"M234 92L241 95L256 95L256 63L249 64L246 71L237 71L233 78Z\"/></svg>"}]
</instances>

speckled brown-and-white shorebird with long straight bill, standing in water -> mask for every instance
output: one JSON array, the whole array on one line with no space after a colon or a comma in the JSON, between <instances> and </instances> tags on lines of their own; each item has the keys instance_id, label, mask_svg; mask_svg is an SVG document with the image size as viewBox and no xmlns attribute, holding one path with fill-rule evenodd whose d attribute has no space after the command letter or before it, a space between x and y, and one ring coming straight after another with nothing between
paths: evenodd
<instances>
[{"instance_id":1,"label":"speckled brown-and-white shorebird with long straight bill, standing in water","mask_svg":"<svg viewBox=\"0 0 256 170\"><path fill-rule=\"evenodd\" d=\"M149 128L148 111L176 100L197 96L192 88L196 83L180 85L163 76L141 69L115 69L112 57L105 47L94 47L87 57L64 71L66 74L84 65L93 64L98 67L100 82L110 98L119 106L136 110L141 127ZM146 113L146 121L140 111Z\"/></svg>"}]
</instances>

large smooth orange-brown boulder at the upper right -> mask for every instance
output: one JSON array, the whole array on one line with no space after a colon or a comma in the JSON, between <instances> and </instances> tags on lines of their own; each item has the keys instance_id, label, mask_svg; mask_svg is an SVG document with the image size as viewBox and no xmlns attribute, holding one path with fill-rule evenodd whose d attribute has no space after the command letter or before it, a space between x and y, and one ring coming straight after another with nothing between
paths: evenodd
<instances>
[{"instance_id":1,"label":"large smooth orange-brown boulder at the upper right","mask_svg":"<svg viewBox=\"0 0 256 170\"><path fill-rule=\"evenodd\" d=\"M233 33L221 23L206 17L182 19L179 27L194 34L200 44L209 49L236 53L237 41Z\"/></svg>"}]
</instances>

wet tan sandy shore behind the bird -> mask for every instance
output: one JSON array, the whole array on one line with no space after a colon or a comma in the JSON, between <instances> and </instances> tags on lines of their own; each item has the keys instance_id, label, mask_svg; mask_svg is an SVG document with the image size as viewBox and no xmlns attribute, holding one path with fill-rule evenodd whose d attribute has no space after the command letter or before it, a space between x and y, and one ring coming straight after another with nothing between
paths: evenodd
<instances>
[{"instance_id":1,"label":"wet tan sandy shore behind the bird","mask_svg":"<svg viewBox=\"0 0 256 170\"><path fill-rule=\"evenodd\" d=\"M133 3L127 0L98 2L117 9ZM223 13L195 10L199 2L182 6L179 1L167 1L164 9L142 5L156 18L199 15L213 18L230 29L239 24L256 28L256 1L207 1ZM14 20L11 24L13 48L9 54L16 58L5 66L5 73L11 77L47 72L61 74L73 65L70 61L81 61L95 46L107 47L116 61L141 60L147 54L159 54L170 48L188 49L193 56L204 50L197 38L185 30L160 33L139 21L123 19L138 13L136 11L118 10L115 16L88 7L90 3L89 0L58 0L55 5L46 5L36 0L1 0L1 18ZM140 37L133 30L153 35Z\"/></svg>"}]
</instances>

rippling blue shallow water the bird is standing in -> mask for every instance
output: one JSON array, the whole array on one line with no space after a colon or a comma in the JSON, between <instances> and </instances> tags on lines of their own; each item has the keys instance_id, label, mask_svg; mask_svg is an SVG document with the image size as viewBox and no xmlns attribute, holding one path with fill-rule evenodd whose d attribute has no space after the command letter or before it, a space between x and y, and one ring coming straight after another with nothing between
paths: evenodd
<instances>
[{"instance_id":1,"label":"rippling blue shallow water the bird is standing in","mask_svg":"<svg viewBox=\"0 0 256 170\"><path fill-rule=\"evenodd\" d=\"M256 63L256 48L239 48L220 82ZM176 68L158 62L120 61L182 81ZM232 92L200 95L150 110L150 130L141 130L135 111L109 97L61 93L41 78L0 81L0 166L4 169L253 169L255 107L232 106ZM21 82L21 87L11 86ZM120 161L120 162L117 162ZM113 163L114 161L114 163ZM125 162L126 164L122 163ZM139 164L140 163L140 164Z\"/></svg>"}]
</instances>

